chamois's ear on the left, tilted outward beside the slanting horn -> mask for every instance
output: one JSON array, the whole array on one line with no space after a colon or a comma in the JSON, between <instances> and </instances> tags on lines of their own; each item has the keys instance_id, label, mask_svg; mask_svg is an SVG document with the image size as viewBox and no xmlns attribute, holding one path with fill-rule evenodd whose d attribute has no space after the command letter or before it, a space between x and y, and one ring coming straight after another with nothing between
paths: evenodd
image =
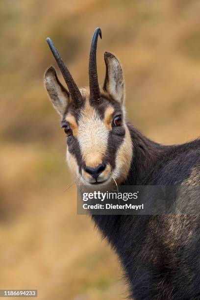
<instances>
[{"instance_id":1,"label":"chamois's ear on the left, tilted outward beside the slanting horn","mask_svg":"<svg viewBox=\"0 0 200 300\"><path fill-rule=\"evenodd\" d=\"M44 82L53 107L62 117L70 101L70 94L59 81L52 66L47 70Z\"/></svg>"}]
</instances>

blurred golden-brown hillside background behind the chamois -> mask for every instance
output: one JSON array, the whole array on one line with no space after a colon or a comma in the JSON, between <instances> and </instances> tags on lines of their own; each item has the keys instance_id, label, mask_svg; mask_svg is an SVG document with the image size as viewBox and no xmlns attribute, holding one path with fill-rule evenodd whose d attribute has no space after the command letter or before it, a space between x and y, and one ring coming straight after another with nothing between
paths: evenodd
<instances>
[{"instance_id":1,"label":"blurred golden-brown hillside background behind the chamois","mask_svg":"<svg viewBox=\"0 0 200 300\"><path fill-rule=\"evenodd\" d=\"M199 0L0 1L0 289L42 300L122 300L115 254L88 216L76 215L65 134L43 86L58 70L50 36L76 83L88 84L95 27L124 67L127 118L159 143L200 132ZM62 80L62 77L60 76Z\"/></svg>"}]
</instances>

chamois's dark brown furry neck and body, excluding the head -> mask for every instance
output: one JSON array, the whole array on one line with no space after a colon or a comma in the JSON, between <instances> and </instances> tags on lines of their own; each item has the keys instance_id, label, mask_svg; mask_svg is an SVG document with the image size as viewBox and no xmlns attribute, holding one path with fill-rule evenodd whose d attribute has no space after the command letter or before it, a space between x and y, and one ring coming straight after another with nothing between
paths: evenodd
<instances>
[{"instance_id":1,"label":"chamois's dark brown furry neck and body, excluding the head","mask_svg":"<svg viewBox=\"0 0 200 300\"><path fill-rule=\"evenodd\" d=\"M200 140L163 146L132 125L128 128L134 158L122 185L200 185ZM199 215L93 215L92 219L120 257L131 299L200 299Z\"/></svg>"}]
</instances>

